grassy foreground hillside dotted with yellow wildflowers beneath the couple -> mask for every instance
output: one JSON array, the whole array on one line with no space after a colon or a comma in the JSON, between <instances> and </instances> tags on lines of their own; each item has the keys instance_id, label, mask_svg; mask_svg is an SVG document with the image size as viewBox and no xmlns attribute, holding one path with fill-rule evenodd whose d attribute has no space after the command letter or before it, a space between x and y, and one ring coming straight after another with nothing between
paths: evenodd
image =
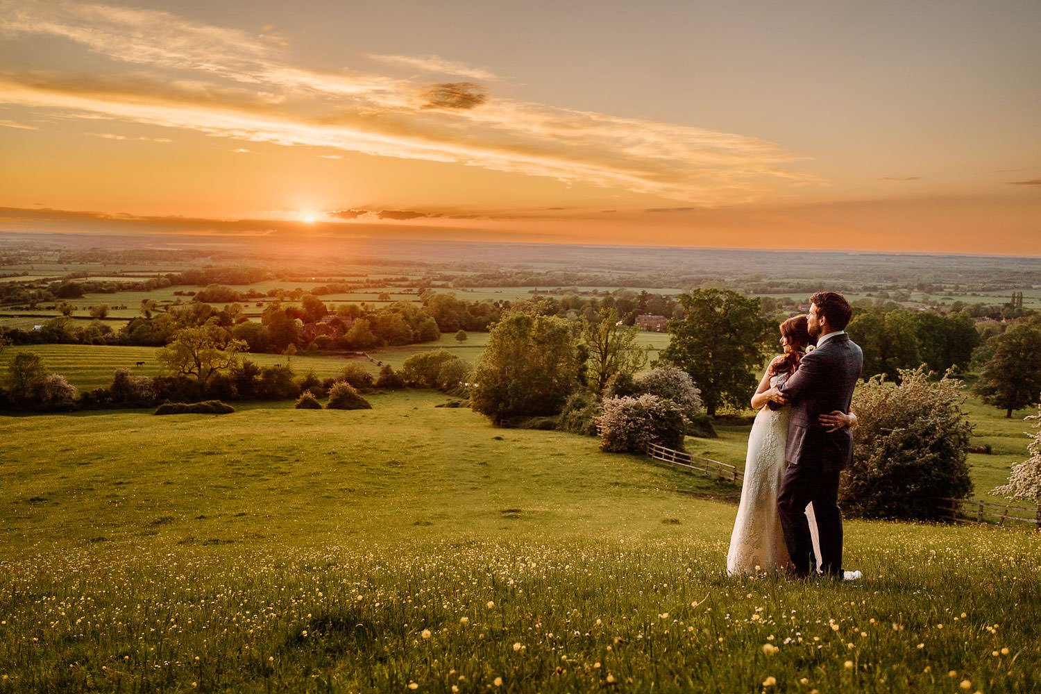
<instances>
[{"instance_id":1,"label":"grassy foreground hillside dotted with yellow wildflowers beneath the couple","mask_svg":"<svg viewBox=\"0 0 1041 694\"><path fill-rule=\"evenodd\" d=\"M728 577L734 488L445 397L0 418L0 691L1026 692L1041 545L847 522Z\"/></svg>"}]
</instances>

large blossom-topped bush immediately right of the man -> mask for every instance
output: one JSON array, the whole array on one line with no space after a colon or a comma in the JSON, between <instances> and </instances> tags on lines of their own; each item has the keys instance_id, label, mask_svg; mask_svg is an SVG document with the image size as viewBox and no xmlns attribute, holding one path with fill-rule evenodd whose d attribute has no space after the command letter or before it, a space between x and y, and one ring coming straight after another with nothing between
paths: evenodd
<instances>
[{"instance_id":1,"label":"large blossom-topped bush immediately right of the man","mask_svg":"<svg viewBox=\"0 0 1041 694\"><path fill-rule=\"evenodd\" d=\"M854 515L939 520L938 499L972 491L963 384L947 376L930 381L920 367L899 374L899 385L877 376L857 389L854 462L840 498Z\"/></svg>"}]
</instances>

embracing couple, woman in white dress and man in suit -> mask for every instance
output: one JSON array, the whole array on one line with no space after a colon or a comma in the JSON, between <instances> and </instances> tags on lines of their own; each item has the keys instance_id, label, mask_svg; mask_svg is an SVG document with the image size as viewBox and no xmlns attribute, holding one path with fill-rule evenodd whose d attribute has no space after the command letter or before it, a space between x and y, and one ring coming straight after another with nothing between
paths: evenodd
<instances>
[{"instance_id":1,"label":"embracing couple, woman in white dress and man in suit","mask_svg":"<svg viewBox=\"0 0 1041 694\"><path fill-rule=\"evenodd\" d=\"M781 324L784 354L770 362L752 399L759 413L727 554L730 574L861 575L842 568L838 506L839 472L853 460L849 428L857 418L849 403L863 364L845 333L852 314L842 294L818 291L808 315Z\"/></svg>"}]
</instances>

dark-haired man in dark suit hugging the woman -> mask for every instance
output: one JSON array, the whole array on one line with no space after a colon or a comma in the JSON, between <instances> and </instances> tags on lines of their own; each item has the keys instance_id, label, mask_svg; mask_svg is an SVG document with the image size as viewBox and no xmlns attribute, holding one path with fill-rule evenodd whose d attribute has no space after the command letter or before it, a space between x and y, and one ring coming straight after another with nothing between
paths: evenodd
<instances>
[{"instance_id":1,"label":"dark-haired man in dark suit hugging the woman","mask_svg":"<svg viewBox=\"0 0 1041 694\"><path fill-rule=\"evenodd\" d=\"M839 472L853 461L853 435L847 427L828 430L821 414L849 411L853 389L860 378L863 354L845 333L853 309L835 291L810 298L808 328L817 348L803 357L795 372L780 388L791 405L785 469L778 510L788 555L795 573L815 572L813 542L806 507L813 504L820 540L820 568L842 579L842 512L838 506ZM848 572L846 572L848 573ZM859 572L849 577L859 577Z\"/></svg>"}]
</instances>

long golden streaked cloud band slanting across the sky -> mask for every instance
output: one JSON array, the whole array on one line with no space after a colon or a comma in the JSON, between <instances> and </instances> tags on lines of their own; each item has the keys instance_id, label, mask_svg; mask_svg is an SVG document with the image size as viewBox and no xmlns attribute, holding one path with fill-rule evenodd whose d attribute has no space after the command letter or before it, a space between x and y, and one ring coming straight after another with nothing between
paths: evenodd
<instances>
[{"instance_id":1,"label":"long golden streaked cloud band slanting across the sky","mask_svg":"<svg viewBox=\"0 0 1041 694\"><path fill-rule=\"evenodd\" d=\"M0 74L0 103L243 143L481 166L696 206L822 183L792 168L797 156L756 137L490 100L473 82L431 87L308 70L271 42L158 10L32 0L4 7L0 35L58 36L110 67L84 79L74 53L64 71L8 67Z\"/></svg>"}]
</instances>

